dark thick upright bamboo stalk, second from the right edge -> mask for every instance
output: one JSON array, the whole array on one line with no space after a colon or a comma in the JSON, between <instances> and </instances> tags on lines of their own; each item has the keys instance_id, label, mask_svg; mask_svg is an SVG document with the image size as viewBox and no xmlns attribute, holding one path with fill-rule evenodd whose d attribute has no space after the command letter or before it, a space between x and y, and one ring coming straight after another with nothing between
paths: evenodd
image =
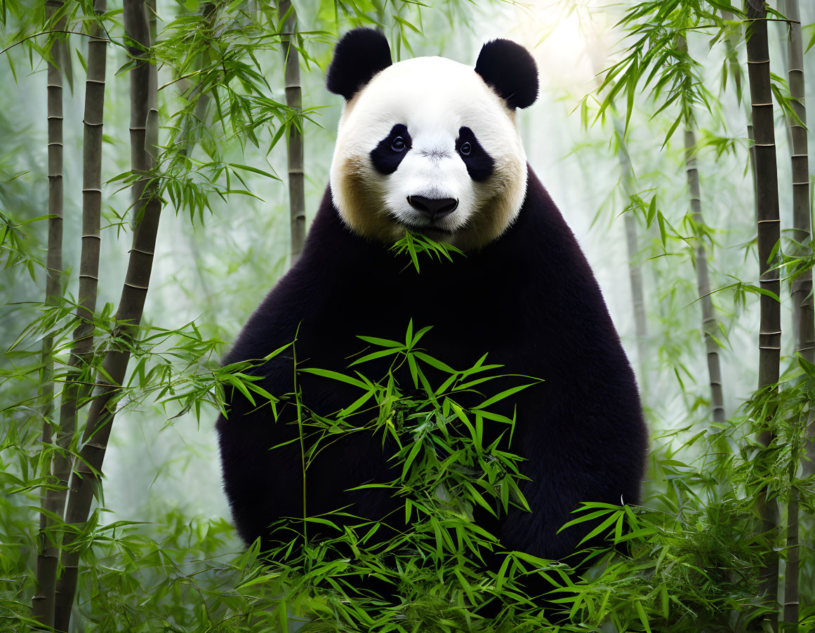
<instances>
[{"instance_id":1,"label":"dark thick upright bamboo stalk, second from the right edge","mask_svg":"<svg viewBox=\"0 0 815 633\"><path fill-rule=\"evenodd\" d=\"M760 286L780 296L778 270L770 264L770 255L780 238L781 220L778 213L778 171L776 165L775 131L773 129L773 96L770 89L767 11L763 4L754 7L749 0L747 11L747 69L753 131L756 134L756 222L758 231ZM778 394L779 362L781 358L781 306L776 299L760 297L759 330L759 389L772 397ZM773 407L770 407L773 409ZM772 416L772 413L771 413ZM759 434L759 442L769 446L775 438L773 429ZM762 530L771 533L778 526L778 502L770 499L763 488L756 499ZM761 592L773 612L765 617L773 631L778 631L778 553L769 548L761 571ZM773 615L774 613L774 615Z\"/></svg>"}]
</instances>

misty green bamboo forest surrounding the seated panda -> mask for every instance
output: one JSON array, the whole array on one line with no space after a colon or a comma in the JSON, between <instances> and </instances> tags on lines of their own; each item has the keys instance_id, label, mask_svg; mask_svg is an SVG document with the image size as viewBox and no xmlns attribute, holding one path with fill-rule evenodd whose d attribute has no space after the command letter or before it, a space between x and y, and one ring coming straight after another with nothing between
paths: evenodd
<instances>
[{"instance_id":1,"label":"misty green bamboo forest surrounding the seated panda","mask_svg":"<svg viewBox=\"0 0 815 633\"><path fill-rule=\"evenodd\" d=\"M379 563L264 566L230 524L213 423L251 384L219 359L302 248L359 25L395 59L537 59L518 126L651 431L642 507L587 509L612 543L583 579L482 570L432 490L395 603L342 579ZM0 630L815 631L813 2L0 0L0 30Z\"/></svg>"}]
</instances>

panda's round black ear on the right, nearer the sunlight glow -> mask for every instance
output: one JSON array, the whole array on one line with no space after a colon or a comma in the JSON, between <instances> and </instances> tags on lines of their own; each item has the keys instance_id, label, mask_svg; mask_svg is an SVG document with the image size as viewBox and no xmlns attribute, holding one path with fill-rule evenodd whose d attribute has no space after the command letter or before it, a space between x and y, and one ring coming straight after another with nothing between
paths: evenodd
<instances>
[{"instance_id":1,"label":"panda's round black ear on the right, nearer the sunlight glow","mask_svg":"<svg viewBox=\"0 0 815 633\"><path fill-rule=\"evenodd\" d=\"M488 41L478 54L475 72L509 107L529 107L538 98L535 59L514 41Z\"/></svg>"}]
</instances>

